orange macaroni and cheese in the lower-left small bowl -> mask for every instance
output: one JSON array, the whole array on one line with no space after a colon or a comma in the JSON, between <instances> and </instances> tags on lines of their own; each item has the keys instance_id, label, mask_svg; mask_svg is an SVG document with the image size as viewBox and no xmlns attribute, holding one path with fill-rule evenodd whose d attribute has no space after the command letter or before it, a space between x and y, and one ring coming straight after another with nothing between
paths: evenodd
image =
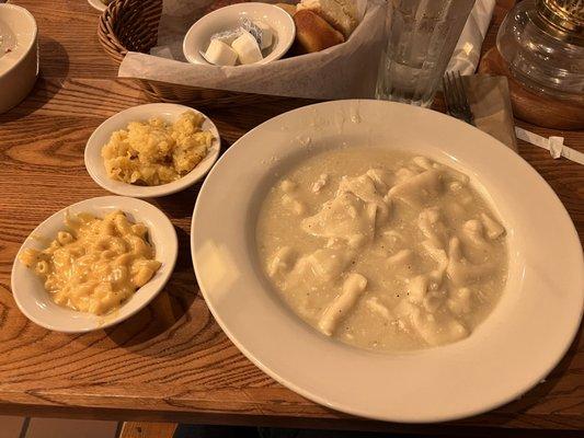
<instances>
[{"instance_id":1,"label":"orange macaroni and cheese in the lower-left small bowl","mask_svg":"<svg viewBox=\"0 0 584 438\"><path fill-rule=\"evenodd\" d=\"M68 231L43 251L27 249L20 260L43 279L53 301L73 310L108 313L147 284L160 267L144 223L122 211L103 219L67 218Z\"/></svg>"}]
</instances>

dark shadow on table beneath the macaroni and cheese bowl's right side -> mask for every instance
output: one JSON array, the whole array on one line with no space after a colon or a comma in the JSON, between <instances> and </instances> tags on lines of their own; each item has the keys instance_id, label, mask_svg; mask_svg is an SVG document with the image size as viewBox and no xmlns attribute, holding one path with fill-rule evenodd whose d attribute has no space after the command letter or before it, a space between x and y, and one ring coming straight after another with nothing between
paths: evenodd
<instances>
[{"instance_id":1,"label":"dark shadow on table beneath the macaroni and cheese bowl's right side","mask_svg":"<svg viewBox=\"0 0 584 438\"><path fill-rule=\"evenodd\" d=\"M121 347L140 346L139 353L148 355L148 350L141 348L142 344L159 336L171 337L190 323L198 286L188 251L188 234L181 229L176 229L176 234L179 257L164 289L140 312L105 330L107 336ZM196 336L197 328L194 328L193 337Z\"/></svg>"}]
</instances>

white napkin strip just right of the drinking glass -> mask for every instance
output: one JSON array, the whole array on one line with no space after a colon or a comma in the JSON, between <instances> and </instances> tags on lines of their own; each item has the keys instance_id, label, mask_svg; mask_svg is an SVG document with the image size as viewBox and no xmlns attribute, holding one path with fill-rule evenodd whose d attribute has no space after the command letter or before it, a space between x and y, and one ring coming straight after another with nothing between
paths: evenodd
<instances>
[{"instance_id":1,"label":"white napkin strip just right of the drinking glass","mask_svg":"<svg viewBox=\"0 0 584 438\"><path fill-rule=\"evenodd\" d=\"M491 23L495 0L477 0L465 28L458 38L455 51L448 62L447 71L472 74L481 57L481 46Z\"/></svg>"}]
</instances>

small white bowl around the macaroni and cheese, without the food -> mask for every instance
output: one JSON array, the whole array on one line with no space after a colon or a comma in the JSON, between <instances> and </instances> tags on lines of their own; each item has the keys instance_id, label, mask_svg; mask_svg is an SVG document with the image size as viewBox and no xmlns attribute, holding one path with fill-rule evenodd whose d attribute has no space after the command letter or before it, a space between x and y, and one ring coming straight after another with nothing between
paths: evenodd
<instances>
[{"instance_id":1,"label":"small white bowl around the macaroni and cheese, without the food","mask_svg":"<svg viewBox=\"0 0 584 438\"><path fill-rule=\"evenodd\" d=\"M144 222L148 227L148 235L154 247L156 260L162 265L150 281L139 288L119 309L106 315L78 312L57 306L45 290L43 281L32 269L20 262L20 255L28 247L38 250L46 247L47 242L41 242L41 240L53 240L58 231L65 229L67 212L71 215L89 212L103 217L114 210L122 210L131 221ZM123 196L85 199L56 212L36 227L26 238L12 265L12 293L21 312L32 322L45 328L64 333L102 330L128 319L146 307L169 280L178 254L179 242L174 227L169 218L151 204Z\"/></svg>"}]
</instances>

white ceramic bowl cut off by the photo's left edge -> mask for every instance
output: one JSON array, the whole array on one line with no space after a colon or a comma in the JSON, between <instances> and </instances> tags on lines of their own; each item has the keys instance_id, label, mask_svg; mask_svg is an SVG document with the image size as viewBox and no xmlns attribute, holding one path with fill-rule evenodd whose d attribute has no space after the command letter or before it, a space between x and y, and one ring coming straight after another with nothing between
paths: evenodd
<instances>
[{"instance_id":1,"label":"white ceramic bowl cut off by the photo's left edge","mask_svg":"<svg viewBox=\"0 0 584 438\"><path fill-rule=\"evenodd\" d=\"M31 92L38 76L38 42L34 16L24 8L0 4L0 114ZM10 51L7 53L5 49Z\"/></svg>"}]
</instances>

